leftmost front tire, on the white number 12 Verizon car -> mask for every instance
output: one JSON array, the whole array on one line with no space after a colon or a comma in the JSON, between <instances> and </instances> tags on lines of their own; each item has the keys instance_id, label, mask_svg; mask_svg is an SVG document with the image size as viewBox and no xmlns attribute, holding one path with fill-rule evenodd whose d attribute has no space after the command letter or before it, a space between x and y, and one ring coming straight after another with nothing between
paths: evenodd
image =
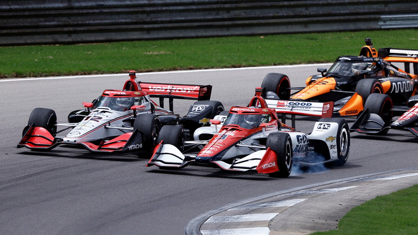
<instances>
[{"instance_id":1,"label":"leftmost front tire, on the white number 12 Verizon car","mask_svg":"<svg viewBox=\"0 0 418 235\"><path fill-rule=\"evenodd\" d=\"M54 110L46 108L35 108L29 116L28 126L23 130L22 137L25 135L29 125L33 123L33 127L43 127L51 133L56 135L56 113Z\"/></svg>"}]
</instances>

